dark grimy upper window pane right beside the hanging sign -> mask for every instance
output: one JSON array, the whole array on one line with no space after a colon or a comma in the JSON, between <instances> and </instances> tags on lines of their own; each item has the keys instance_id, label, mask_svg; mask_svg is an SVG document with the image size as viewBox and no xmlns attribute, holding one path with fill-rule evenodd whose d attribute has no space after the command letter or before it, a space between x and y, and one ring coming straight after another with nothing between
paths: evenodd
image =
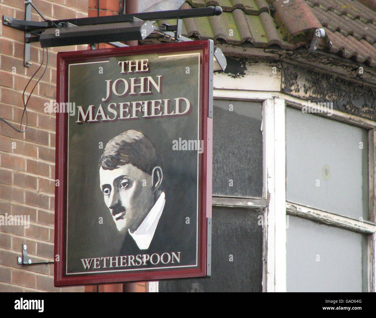
<instances>
[{"instance_id":1,"label":"dark grimy upper window pane right beside the hanging sign","mask_svg":"<svg viewBox=\"0 0 376 318\"><path fill-rule=\"evenodd\" d=\"M262 196L261 118L261 103L214 100L214 195Z\"/></svg>"}]
</instances>

